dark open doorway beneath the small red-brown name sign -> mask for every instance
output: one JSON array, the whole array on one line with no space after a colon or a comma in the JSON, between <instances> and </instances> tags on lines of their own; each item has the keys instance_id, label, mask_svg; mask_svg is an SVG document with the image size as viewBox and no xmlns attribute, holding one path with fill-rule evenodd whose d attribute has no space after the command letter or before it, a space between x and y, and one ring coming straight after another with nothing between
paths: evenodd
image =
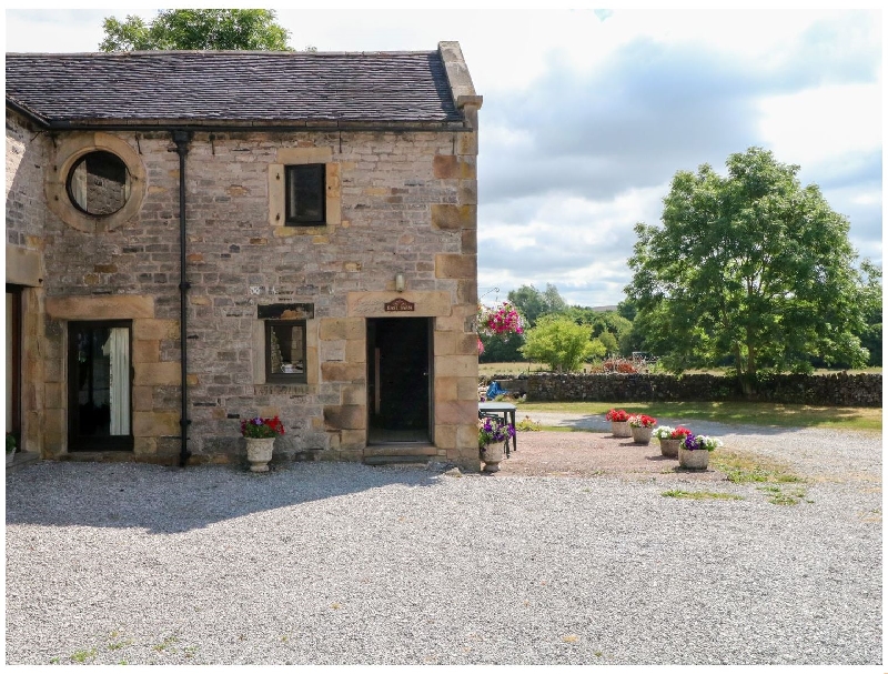
<instances>
[{"instance_id":1,"label":"dark open doorway beneath the small red-brown name sign","mask_svg":"<svg viewBox=\"0 0 888 674\"><path fill-rule=\"evenodd\" d=\"M367 442L430 442L430 319L367 319Z\"/></svg>"}]
</instances>

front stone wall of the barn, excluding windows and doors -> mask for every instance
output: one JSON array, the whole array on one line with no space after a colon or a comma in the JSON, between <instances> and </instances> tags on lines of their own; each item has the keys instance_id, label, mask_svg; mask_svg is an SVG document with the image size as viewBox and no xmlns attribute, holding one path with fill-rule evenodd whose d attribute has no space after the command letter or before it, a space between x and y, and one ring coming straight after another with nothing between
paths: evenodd
<instances>
[{"instance_id":1,"label":"front stone wall of the barn, excluding windows and doors","mask_svg":"<svg viewBox=\"0 0 888 674\"><path fill-rule=\"evenodd\" d=\"M98 229L75 229L64 211L44 209L52 270L46 281L48 381L63 383L65 321L132 319L135 454L160 460L179 451L179 155L169 133L110 135L143 169L140 208ZM476 147L474 132L193 137L185 185L189 449L195 460L226 461L242 452L240 420L256 414L281 416L287 434L276 446L283 454L313 450L361 459L371 314L360 308L394 298L394 275L402 272L403 296L426 308L416 315L434 319L435 445L448 460L477 463ZM316 153L334 167L327 197L332 191L340 212L324 227L282 227L274 197L280 169ZM309 381L266 384L256 368L263 356L258 306L287 302L314 309L306 330ZM62 418L61 389L58 398L51 413ZM59 432L50 455L65 451L64 424L53 423Z\"/></svg>"}]
</instances>

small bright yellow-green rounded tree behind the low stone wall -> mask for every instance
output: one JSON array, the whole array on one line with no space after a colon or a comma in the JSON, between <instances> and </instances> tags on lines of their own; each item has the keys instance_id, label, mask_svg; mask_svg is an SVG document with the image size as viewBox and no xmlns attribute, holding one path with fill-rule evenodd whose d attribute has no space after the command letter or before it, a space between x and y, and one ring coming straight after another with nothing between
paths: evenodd
<instances>
[{"instance_id":1,"label":"small bright yellow-green rounded tree behind the low stone wall","mask_svg":"<svg viewBox=\"0 0 888 674\"><path fill-rule=\"evenodd\" d=\"M558 372L575 372L587 359L605 353L604 345L598 340L592 341L591 335L587 325L577 325L571 319L542 316L536 326L525 333L521 352Z\"/></svg>"}]
</instances>

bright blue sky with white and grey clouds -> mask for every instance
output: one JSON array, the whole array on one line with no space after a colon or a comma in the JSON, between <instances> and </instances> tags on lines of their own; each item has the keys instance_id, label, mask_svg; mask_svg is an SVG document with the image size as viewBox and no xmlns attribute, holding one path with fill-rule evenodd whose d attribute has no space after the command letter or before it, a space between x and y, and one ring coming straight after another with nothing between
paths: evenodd
<instances>
[{"instance_id":1,"label":"bright blue sky with white and grey clouds","mask_svg":"<svg viewBox=\"0 0 888 674\"><path fill-rule=\"evenodd\" d=\"M624 299L636 222L677 171L750 147L800 167L881 264L882 12L864 10L278 10L319 51L460 42L477 93L478 294L553 284ZM7 10L6 51L98 51L115 10ZM151 19L157 10L130 10Z\"/></svg>"}]
</instances>

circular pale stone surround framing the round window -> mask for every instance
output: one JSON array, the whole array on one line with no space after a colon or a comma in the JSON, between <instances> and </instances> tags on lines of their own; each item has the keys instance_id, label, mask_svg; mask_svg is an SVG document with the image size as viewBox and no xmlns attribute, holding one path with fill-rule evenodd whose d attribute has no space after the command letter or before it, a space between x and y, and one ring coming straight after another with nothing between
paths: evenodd
<instances>
[{"instance_id":1,"label":"circular pale stone surround framing the round window","mask_svg":"<svg viewBox=\"0 0 888 674\"><path fill-rule=\"evenodd\" d=\"M87 233L111 232L133 218L145 195L145 168L139 154L127 141L110 133L72 133L57 138L50 170L46 172L47 204L62 222ZM130 198L123 207L108 215L90 215L71 202L68 175L84 155L98 151L111 152L127 165L130 173Z\"/></svg>"}]
</instances>

